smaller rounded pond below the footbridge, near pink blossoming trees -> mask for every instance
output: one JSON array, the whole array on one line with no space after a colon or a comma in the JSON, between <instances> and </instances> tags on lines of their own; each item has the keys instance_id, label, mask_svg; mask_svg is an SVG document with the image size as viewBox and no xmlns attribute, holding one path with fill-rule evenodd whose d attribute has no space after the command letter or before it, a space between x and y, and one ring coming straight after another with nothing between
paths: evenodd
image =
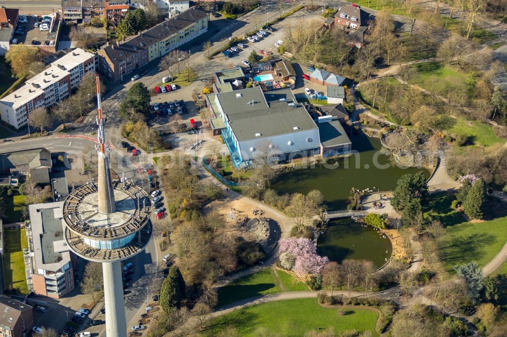
<instances>
[{"instance_id":1,"label":"smaller rounded pond below the footbridge, near pink blossoming trees","mask_svg":"<svg viewBox=\"0 0 507 337\"><path fill-rule=\"evenodd\" d=\"M370 260L377 268L391 257L391 241L370 226L350 218L336 219L320 234L317 252L331 261L341 263L345 259Z\"/></svg>"}]
</instances>

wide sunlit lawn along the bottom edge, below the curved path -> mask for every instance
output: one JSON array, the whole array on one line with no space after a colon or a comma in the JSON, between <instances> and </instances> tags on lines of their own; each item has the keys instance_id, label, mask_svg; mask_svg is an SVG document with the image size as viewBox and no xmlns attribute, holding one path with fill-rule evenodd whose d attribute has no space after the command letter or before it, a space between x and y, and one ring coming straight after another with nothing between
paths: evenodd
<instances>
[{"instance_id":1,"label":"wide sunlit lawn along the bottom edge, below the curved path","mask_svg":"<svg viewBox=\"0 0 507 337\"><path fill-rule=\"evenodd\" d=\"M355 329L375 332L378 314L373 309L354 307L340 316L337 308L324 308L314 298L274 301L243 308L209 322L204 336L216 335L227 325L235 326L241 336L254 336L260 327L282 336L302 336L317 327L331 328L335 333Z\"/></svg>"}]
</instances>

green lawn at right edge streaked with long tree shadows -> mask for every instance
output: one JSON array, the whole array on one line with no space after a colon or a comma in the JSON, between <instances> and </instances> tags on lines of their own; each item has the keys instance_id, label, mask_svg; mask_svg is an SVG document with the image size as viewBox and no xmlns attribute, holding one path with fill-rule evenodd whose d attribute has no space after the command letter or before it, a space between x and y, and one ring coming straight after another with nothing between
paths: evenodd
<instances>
[{"instance_id":1,"label":"green lawn at right edge streaked with long tree shadows","mask_svg":"<svg viewBox=\"0 0 507 337\"><path fill-rule=\"evenodd\" d=\"M507 217L485 222L465 222L448 226L442 238L439 258L446 270L453 266L475 261L485 266L507 240Z\"/></svg>"}]
</instances>

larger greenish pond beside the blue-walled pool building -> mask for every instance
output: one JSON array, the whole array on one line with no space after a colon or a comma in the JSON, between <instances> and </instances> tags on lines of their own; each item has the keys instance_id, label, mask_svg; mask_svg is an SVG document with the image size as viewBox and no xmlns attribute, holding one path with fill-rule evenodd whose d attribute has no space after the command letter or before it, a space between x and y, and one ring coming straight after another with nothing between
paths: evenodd
<instances>
[{"instance_id":1,"label":"larger greenish pond beside the blue-walled pool building","mask_svg":"<svg viewBox=\"0 0 507 337\"><path fill-rule=\"evenodd\" d=\"M329 210L346 208L350 190L370 188L374 191L390 191L397 180L405 174L423 171L422 167L399 167L391 165L389 155L381 153L382 145L378 138L370 138L358 132L350 136L355 154L340 158L337 165L317 164L312 168L296 168L278 175L271 188L284 193L308 193L313 189L322 192Z\"/></svg>"}]
</instances>

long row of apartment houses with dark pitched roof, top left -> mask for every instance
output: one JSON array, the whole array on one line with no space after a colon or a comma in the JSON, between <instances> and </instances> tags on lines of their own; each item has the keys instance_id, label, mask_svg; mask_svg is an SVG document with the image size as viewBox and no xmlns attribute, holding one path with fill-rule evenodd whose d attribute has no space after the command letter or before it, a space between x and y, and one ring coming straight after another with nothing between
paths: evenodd
<instances>
[{"instance_id":1,"label":"long row of apartment houses with dark pitched roof, top left","mask_svg":"<svg viewBox=\"0 0 507 337\"><path fill-rule=\"evenodd\" d=\"M100 73L118 80L208 30L208 16L194 7L139 35L101 48Z\"/></svg>"}]
</instances>

